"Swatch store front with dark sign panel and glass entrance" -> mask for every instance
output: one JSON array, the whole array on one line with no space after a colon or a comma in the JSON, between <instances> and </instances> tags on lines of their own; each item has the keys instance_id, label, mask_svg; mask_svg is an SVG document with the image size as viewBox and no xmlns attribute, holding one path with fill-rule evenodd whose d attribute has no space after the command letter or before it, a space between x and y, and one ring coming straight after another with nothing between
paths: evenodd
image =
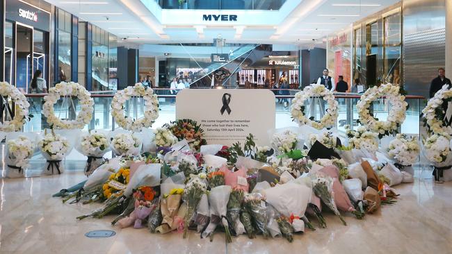
<instances>
[{"instance_id":1,"label":"Swatch store front with dark sign panel and glass entrance","mask_svg":"<svg viewBox=\"0 0 452 254\"><path fill-rule=\"evenodd\" d=\"M24 1L6 1L5 81L29 91L35 71L49 85L50 13Z\"/></svg>"}]
</instances>

